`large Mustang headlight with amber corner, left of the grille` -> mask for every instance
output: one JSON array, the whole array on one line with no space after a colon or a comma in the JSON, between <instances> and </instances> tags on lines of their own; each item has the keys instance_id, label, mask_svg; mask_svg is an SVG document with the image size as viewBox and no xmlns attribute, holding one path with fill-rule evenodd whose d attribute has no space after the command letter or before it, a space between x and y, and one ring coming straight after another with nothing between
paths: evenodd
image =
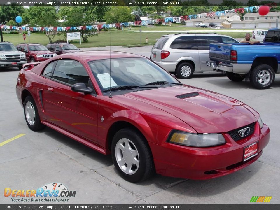
<instances>
[{"instance_id":1,"label":"large Mustang headlight with amber corner, left of the grille","mask_svg":"<svg viewBox=\"0 0 280 210\"><path fill-rule=\"evenodd\" d=\"M209 147L226 143L222 134L192 134L183 131L173 131L167 142L193 147Z\"/></svg>"}]
</instances>

